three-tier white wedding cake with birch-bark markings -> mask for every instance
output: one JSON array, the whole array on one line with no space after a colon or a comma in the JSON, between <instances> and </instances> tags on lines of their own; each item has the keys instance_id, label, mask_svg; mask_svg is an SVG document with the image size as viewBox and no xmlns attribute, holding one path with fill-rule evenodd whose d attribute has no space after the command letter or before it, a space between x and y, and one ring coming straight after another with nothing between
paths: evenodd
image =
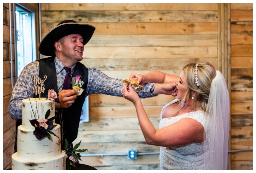
<instances>
[{"instance_id":1,"label":"three-tier white wedding cake with birch-bark markings","mask_svg":"<svg viewBox=\"0 0 256 173\"><path fill-rule=\"evenodd\" d=\"M46 114L49 114L47 120L55 116L54 101L46 98L22 100L22 125L18 127L17 152L12 154L12 169L66 169L67 156L61 151L60 125L53 122L56 126L53 125L54 128L44 138L40 138L41 133L35 134L38 126L31 125L31 120L45 119Z\"/></svg>"}]
</instances>

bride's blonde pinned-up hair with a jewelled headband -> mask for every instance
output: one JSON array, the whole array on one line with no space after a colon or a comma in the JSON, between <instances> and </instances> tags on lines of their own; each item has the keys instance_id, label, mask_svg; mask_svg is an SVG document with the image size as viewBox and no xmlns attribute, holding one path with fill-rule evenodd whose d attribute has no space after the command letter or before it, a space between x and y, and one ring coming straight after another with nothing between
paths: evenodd
<instances>
[{"instance_id":1,"label":"bride's blonde pinned-up hair with a jewelled headband","mask_svg":"<svg viewBox=\"0 0 256 173\"><path fill-rule=\"evenodd\" d=\"M195 76L195 67L196 63L190 63L183 67L183 72L186 75L186 82L188 85L188 91L185 94L185 97L182 100L182 104L185 100L192 100L193 109L196 109L197 101L201 102L200 110L205 113L209 94L211 90L212 80L216 76L216 70L214 66L209 62L198 63L197 65L197 80L200 86L196 85L196 76ZM197 92L198 95L192 99L194 92Z\"/></svg>"}]
</instances>

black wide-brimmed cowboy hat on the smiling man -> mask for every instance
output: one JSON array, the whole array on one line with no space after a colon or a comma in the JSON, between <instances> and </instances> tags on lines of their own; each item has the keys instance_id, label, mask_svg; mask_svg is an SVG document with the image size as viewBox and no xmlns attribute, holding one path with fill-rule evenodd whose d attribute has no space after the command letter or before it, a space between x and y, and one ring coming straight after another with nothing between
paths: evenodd
<instances>
[{"instance_id":1,"label":"black wide-brimmed cowboy hat on the smiling man","mask_svg":"<svg viewBox=\"0 0 256 173\"><path fill-rule=\"evenodd\" d=\"M54 43L70 34L79 34L84 38L83 44L89 42L95 27L88 24L76 23L74 20L64 20L49 31L39 44L39 52L45 56L54 56Z\"/></svg>"}]
</instances>

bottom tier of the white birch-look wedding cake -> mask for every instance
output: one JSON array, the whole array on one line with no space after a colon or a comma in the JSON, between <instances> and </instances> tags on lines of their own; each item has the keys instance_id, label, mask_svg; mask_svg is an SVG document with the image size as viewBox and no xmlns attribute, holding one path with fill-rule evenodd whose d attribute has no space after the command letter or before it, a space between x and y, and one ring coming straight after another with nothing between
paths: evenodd
<instances>
[{"instance_id":1,"label":"bottom tier of the white birch-look wedding cake","mask_svg":"<svg viewBox=\"0 0 256 173\"><path fill-rule=\"evenodd\" d=\"M40 155L37 156L40 158ZM12 170L20 169L66 169L67 155L62 152L59 156L49 157L45 160L25 161L18 157L17 153L12 154Z\"/></svg>"}]
</instances>

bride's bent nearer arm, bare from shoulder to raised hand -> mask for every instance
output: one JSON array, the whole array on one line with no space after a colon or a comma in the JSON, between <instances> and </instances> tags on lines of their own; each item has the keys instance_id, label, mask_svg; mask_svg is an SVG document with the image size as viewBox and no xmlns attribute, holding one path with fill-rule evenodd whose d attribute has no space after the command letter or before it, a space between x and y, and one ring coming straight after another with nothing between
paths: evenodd
<instances>
[{"instance_id":1,"label":"bride's bent nearer arm, bare from shoulder to raised hand","mask_svg":"<svg viewBox=\"0 0 256 173\"><path fill-rule=\"evenodd\" d=\"M127 87L129 87L127 89ZM124 86L124 98L131 101L138 116L143 136L150 145L178 146L191 142L203 142L204 127L201 123L191 118L183 118L180 121L156 130L150 122L147 113L131 84Z\"/></svg>"}]
</instances>

